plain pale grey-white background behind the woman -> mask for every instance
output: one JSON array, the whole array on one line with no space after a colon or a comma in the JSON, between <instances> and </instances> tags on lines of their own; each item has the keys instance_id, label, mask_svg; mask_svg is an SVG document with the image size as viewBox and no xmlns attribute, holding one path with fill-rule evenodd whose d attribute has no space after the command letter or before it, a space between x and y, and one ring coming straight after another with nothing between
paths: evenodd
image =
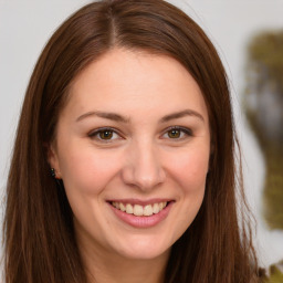
<instances>
[{"instance_id":1,"label":"plain pale grey-white background behind the woman","mask_svg":"<svg viewBox=\"0 0 283 283\"><path fill-rule=\"evenodd\" d=\"M41 50L56 27L90 1L0 0L0 197L23 95ZM283 232L269 231L261 218L264 160L247 126L244 92L245 46L254 33L283 29L283 0L175 0L208 33L224 62L232 86L233 107L244 157L245 188L258 220L261 263L283 259ZM24 165L22 165L24 166ZM3 203L3 201L2 201ZM3 206L3 205L2 205Z\"/></svg>"}]
</instances>

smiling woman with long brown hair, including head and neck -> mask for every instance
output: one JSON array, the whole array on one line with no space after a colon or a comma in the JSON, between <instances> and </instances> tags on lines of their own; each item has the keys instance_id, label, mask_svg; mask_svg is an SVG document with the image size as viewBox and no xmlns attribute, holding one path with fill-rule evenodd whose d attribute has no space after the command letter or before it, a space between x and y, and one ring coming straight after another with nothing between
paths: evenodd
<instances>
[{"instance_id":1,"label":"smiling woman with long brown hair, including head and neck","mask_svg":"<svg viewBox=\"0 0 283 283\"><path fill-rule=\"evenodd\" d=\"M256 282L235 142L223 66L188 15L160 0L82 8L27 91L6 282Z\"/></svg>"}]
</instances>

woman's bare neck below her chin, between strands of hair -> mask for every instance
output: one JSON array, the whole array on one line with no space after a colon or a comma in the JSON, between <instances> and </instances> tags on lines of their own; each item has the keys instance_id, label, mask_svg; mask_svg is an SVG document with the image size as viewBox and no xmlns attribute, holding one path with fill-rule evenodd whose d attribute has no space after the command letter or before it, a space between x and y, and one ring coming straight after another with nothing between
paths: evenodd
<instances>
[{"instance_id":1,"label":"woman's bare neck below her chin, between strands of hair","mask_svg":"<svg viewBox=\"0 0 283 283\"><path fill-rule=\"evenodd\" d=\"M163 283L169 252L155 259L127 259L107 251L80 248L88 283Z\"/></svg>"}]
</instances>

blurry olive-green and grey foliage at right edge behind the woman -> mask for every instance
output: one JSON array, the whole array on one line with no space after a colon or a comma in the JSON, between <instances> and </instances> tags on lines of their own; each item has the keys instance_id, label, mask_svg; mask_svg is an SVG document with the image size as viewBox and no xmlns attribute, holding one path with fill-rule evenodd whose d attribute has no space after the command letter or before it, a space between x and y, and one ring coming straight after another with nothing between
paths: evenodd
<instances>
[{"instance_id":1,"label":"blurry olive-green and grey foliage at right edge behind the woman","mask_svg":"<svg viewBox=\"0 0 283 283\"><path fill-rule=\"evenodd\" d=\"M264 32L250 42L247 78L247 115L266 165L264 216L271 229L283 229L283 31Z\"/></svg>"}]
</instances>

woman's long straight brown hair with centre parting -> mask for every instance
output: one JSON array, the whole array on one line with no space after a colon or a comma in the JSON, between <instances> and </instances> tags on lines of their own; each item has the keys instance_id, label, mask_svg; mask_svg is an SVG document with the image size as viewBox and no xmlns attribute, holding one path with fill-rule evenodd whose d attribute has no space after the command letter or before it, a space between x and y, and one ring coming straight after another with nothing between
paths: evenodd
<instances>
[{"instance_id":1,"label":"woman's long straight brown hair with centre parting","mask_svg":"<svg viewBox=\"0 0 283 283\"><path fill-rule=\"evenodd\" d=\"M203 31L161 0L87 4L44 48L27 90L7 186L6 282L86 282L72 211L63 184L49 174L46 145L56 135L74 77L114 46L179 61L201 88L209 112L213 150L205 200L171 249L166 282L252 282L256 260L249 218L238 220L242 210L237 208L237 188L244 199L241 176L240 181L235 177L237 138L226 72Z\"/></svg>"}]
</instances>

